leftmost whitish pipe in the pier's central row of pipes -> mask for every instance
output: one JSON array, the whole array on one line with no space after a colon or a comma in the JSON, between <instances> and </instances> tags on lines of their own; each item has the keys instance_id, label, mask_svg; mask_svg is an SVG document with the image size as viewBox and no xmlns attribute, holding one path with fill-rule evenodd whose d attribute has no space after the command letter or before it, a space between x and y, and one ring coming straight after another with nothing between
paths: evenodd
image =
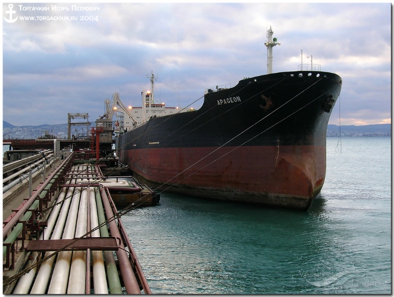
<instances>
[{"instance_id":1,"label":"leftmost whitish pipe in the pier's central row of pipes","mask_svg":"<svg viewBox=\"0 0 394 297\"><path fill-rule=\"evenodd\" d=\"M60 194L57 196L56 204L53 207L51 214L48 217L48 226L45 229L44 232L44 240L49 239L53 227L55 226L57 215L59 214L62 205L63 205L63 199L66 196L66 188L63 188ZM58 203L58 204L57 204ZM40 240L43 239L43 233L40 235ZM32 252L31 257L33 260L30 260L27 262L26 266L31 266L34 265L37 262L37 257L38 257L38 252ZM13 294L28 294L30 287L33 283L34 276L35 276L36 268L31 269L28 273L24 274L21 276L21 278L18 279L18 283L16 284Z\"/></svg>"}]
</instances>

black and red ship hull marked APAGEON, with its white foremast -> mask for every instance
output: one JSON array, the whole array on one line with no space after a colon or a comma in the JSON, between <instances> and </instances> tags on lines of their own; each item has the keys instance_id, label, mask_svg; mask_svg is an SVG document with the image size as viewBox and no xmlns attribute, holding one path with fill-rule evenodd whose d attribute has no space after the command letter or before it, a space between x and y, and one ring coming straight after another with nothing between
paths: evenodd
<instances>
[{"instance_id":1,"label":"black and red ship hull marked APAGEON, with its white foremast","mask_svg":"<svg viewBox=\"0 0 394 297\"><path fill-rule=\"evenodd\" d=\"M306 210L323 187L339 75L298 70L207 89L198 110L150 116L115 138L117 156L156 191Z\"/></svg>"}]
</instances>

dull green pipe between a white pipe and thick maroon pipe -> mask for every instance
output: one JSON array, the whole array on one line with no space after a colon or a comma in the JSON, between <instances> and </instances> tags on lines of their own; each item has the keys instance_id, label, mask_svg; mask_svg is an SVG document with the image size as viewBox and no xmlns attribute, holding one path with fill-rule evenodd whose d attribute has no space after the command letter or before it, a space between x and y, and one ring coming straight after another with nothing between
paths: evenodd
<instances>
[{"instance_id":1,"label":"dull green pipe between a white pipe and thick maroon pipe","mask_svg":"<svg viewBox=\"0 0 394 297\"><path fill-rule=\"evenodd\" d=\"M99 224L102 225L106 222L103 203L101 201L101 195L99 188L95 187L94 192L96 194L96 205L97 205L97 215L99 216ZM100 227L101 237L108 237L107 224ZM123 294L121 281L119 280L119 274L117 272L115 259L113 258L112 251L104 251L105 257L105 267L107 269L107 278L109 284L110 294Z\"/></svg>"}]
</instances>

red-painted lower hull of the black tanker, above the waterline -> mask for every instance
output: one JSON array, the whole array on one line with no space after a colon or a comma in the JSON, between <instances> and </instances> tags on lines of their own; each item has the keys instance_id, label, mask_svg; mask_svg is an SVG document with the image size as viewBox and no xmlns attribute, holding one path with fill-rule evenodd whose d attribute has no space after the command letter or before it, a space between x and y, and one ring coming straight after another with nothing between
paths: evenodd
<instances>
[{"instance_id":1,"label":"red-painted lower hull of the black tanker, above the waterline","mask_svg":"<svg viewBox=\"0 0 394 297\"><path fill-rule=\"evenodd\" d=\"M128 152L140 178L184 194L307 209L323 186L324 146L141 149Z\"/></svg>"}]
</instances>

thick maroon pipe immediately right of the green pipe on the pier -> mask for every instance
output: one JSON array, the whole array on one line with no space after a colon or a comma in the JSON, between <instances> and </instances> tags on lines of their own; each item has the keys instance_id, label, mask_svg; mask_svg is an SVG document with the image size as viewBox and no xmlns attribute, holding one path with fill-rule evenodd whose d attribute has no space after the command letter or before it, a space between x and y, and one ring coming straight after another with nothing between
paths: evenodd
<instances>
[{"instance_id":1,"label":"thick maroon pipe immediately right of the green pipe on the pier","mask_svg":"<svg viewBox=\"0 0 394 297\"><path fill-rule=\"evenodd\" d=\"M104 188L102 188L100 192L103 199L103 205L105 208L107 219L111 219L113 218L114 214L111 205L109 203L107 193L105 192ZM122 238L119 229L117 228L115 220L109 222L109 229L111 232L111 236ZM123 245L122 241L119 245L119 250L116 251L116 255L117 255L117 259L119 260L119 267L121 269L123 282L126 287L126 293L141 294L140 286L137 283L133 268L131 267L131 263L129 261L129 258L125 250L125 246Z\"/></svg>"}]
</instances>

